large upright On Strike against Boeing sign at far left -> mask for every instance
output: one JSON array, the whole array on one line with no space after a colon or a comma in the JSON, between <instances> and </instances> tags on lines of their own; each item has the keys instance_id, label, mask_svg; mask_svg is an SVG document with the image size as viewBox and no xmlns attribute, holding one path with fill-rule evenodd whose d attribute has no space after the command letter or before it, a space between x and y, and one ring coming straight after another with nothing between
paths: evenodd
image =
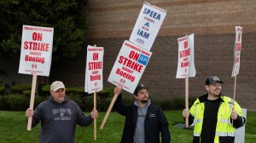
<instances>
[{"instance_id":1,"label":"large upright On Strike against Boeing sign at far left","mask_svg":"<svg viewBox=\"0 0 256 143\"><path fill-rule=\"evenodd\" d=\"M49 76L54 29L23 26L19 73Z\"/></svg>"}]
</instances>

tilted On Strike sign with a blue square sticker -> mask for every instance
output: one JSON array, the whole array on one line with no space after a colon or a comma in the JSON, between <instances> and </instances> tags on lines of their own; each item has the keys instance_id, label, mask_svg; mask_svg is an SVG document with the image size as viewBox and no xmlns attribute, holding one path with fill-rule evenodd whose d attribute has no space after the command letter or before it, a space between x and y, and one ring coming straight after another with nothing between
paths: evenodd
<instances>
[{"instance_id":1,"label":"tilted On Strike sign with a blue square sticker","mask_svg":"<svg viewBox=\"0 0 256 143\"><path fill-rule=\"evenodd\" d=\"M110 72L108 82L133 94L151 54L151 52L125 40Z\"/></svg>"}]
</instances>

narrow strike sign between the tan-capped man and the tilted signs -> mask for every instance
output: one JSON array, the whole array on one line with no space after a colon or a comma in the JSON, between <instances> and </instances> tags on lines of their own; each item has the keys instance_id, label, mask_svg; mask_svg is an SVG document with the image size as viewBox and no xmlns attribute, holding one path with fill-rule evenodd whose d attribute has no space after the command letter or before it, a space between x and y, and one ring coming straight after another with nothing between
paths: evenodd
<instances>
[{"instance_id":1,"label":"narrow strike sign between the tan-capped man and the tilted signs","mask_svg":"<svg viewBox=\"0 0 256 143\"><path fill-rule=\"evenodd\" d=\"M87 47L86 69L85 69L85 92L89 94L99 92L103 89L103 47Z\"/></svg>"}]
</instances>

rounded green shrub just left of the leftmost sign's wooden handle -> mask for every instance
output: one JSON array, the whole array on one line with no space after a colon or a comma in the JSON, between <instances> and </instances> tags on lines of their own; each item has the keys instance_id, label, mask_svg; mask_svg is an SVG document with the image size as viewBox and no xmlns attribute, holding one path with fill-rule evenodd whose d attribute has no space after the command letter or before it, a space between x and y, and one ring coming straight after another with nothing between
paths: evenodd
<instances>
[{"instance_id":1,"label":"rounded green shrub just left of the leftmost sign's wooden handle","mask_svg":"<svg viewBox=\"0 0 256 143\"><path fill-rule=\"evenodd\" d=\"M29 107L29 99L24 94L9 96L9 106L11 111L25 111Z\"/></svg>"}]
</instances>

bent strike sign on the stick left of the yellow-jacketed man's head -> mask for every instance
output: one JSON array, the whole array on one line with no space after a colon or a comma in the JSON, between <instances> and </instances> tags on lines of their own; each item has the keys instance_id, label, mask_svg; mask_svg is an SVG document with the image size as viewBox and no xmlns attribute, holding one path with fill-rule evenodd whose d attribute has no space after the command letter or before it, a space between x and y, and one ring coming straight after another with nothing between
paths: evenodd
<instances>
[{"instance_id":1,"label":"bent strike sign on the stick left of the yellow-jacketed man's head","mask_svg":"<svg viewBox=\"0 0 256 143\"><path fill-rule=\"evenodd\" d=\"M178 59L176 78L195 77L194 33L177 38Z\"/></svg>"}]
</instances>

